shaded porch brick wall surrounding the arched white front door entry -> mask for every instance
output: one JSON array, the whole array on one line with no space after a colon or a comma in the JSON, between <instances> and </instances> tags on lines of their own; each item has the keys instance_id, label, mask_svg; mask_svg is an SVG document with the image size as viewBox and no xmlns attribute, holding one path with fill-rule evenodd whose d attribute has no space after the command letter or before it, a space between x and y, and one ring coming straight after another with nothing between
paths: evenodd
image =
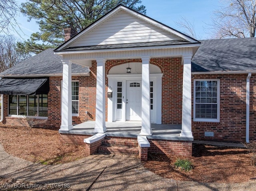
<instances>
[{"instance_id":1,"label":"shaded porch brick wall surrounding the arched white front door entry","mask_svg":"<svg viewBox=\"0 0 256 191\"><path fill-rule=\"evenodd\" d=\"M129 60L108 60L106 61L105 73L117 65L142 62L141 59ZM183 65L181 58L152 58L150 64L157 65L162 73L162 123L163 124L181 124L182 122L182 79ZM94 73L96 72L93 69ZM106 77L106 91L108 79ZM107 98L106 98L107 108ZM106 110L107 119L107 110Z\"/></svg>"}]
</instances>

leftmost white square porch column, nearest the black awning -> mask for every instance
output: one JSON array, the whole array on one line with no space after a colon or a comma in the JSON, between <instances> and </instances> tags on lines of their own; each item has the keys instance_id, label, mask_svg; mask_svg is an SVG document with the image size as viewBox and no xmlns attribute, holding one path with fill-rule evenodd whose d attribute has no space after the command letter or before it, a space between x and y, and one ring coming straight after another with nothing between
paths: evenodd
<instances>
[{"instance_id":1,"label":"leftmost white square porch column, nearest the black awning","mask_svg":"<svg viewBox=\"0 0 256 191\"><path fill-rule=\"evenodd\" d=\"M72 126L72 89L71 61L64 60L62 79L61 130L71 130Z\"/></svg>"}]
</instances>

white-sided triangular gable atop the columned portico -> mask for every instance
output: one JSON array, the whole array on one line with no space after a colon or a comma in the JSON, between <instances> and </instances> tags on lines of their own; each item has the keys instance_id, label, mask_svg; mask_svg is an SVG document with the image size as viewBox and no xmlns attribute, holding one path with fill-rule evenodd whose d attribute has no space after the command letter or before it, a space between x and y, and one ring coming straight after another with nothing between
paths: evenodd
<instances>
[{"instance_id":1,"label":"white-sided triangular gable atop the columned portico","mask_svg":"<svg viewBox=\"0 0 256 191\"><path fill-rule=\"evenodd\" d=\"M174 40L198 43L181 32L120 5L60 45L56 51L68 47Z\"/></svg>"}]
</instances>

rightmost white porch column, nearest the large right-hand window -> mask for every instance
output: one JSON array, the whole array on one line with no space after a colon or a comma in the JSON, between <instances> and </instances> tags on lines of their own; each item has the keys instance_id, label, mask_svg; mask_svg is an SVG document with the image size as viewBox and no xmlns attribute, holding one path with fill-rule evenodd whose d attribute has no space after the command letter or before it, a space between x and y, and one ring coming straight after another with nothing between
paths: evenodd
<instances>
[{"instance_id":1,"label":"rightmost white porch column, nearest the large right-hand window","mask_svg":"<svg viewBox=\"0 0 256 191\"><path fill-rule=\"evenodd\" d=\"M191 122L191 55L183 56L182 130L181 137L193 137Z\"/></svg>"}]
</instances>

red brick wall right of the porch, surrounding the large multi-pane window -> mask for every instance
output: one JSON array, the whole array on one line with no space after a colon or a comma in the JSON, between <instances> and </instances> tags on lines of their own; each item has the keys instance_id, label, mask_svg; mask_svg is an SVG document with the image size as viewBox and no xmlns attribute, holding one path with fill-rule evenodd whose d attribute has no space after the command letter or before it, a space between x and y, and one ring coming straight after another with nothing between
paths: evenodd
<instances>
[{"instance_id":1,"label":"red brick wall right of the porch, surrounding the large multi-pane window","mask_svg":"<svg viewBox=\"0 0 256 191\"><path fill-rule=\"evenodd\" d=\"M246 77L240 75L192 75L192 100L194 79L220 79L220 122L193 122L194 140L245 142L246 136ZM256 75L250 79L250 140L256 138ZM204 132L214 132L205 137Z\"/></svg>"}]
</instances>

